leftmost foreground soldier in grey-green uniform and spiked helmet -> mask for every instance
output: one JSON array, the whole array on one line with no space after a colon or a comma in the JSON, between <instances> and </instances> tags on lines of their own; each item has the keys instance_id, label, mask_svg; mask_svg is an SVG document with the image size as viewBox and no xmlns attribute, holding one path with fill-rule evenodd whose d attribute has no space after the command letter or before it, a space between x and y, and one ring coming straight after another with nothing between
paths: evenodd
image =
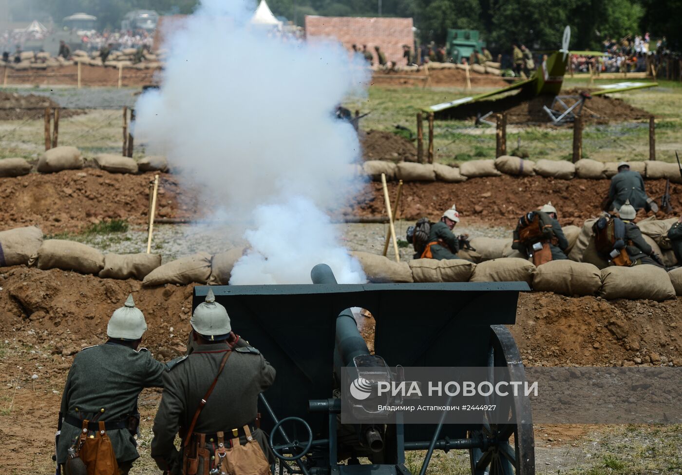
<instances>
[{"instance_id":1,"label":"leftmost foreground soldier in grey-green uniform and spiked helmet","mask_svg":"<svg viewBox=\"0 0 682 475\"><path fill-rule=\"evenodd\" d=\"M145 330L145 315L130 295L109 319L108 341L76 354L61 396L59 417L63 422L57 463L65 463L85 419L96 421L89 422L93 431L98 430L98 421L104 421L120 474L128 474L140 457L133 437L140 416L137 398L143 388L160 388L162 375L168 371L168 366L152 358L146 348L138 350Z\"/></svg>"}]
</instances>

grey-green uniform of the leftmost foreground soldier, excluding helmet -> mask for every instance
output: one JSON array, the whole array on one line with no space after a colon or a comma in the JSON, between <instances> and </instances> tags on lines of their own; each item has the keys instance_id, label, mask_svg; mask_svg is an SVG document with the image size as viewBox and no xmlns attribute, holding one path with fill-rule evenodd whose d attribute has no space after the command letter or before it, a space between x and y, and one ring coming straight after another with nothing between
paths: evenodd
<instances>
[{"instance_id":1,"label":"grey-green uniform of the leftmost foreground soldier, excluding helmet","mask_svg":"<svg viewBox=\"0 0 682 475\"><path fill-rule=\"evenodd\" d=\"M139 351L107 342L83 349L74 358L61 396L62 416L116 421L134 414L143 388L160 388L168 366ZM104 412L102 412L104 409ZM76 442L81 427L64 422L57 444L57 463L65 463L67 450ZM107 431L116 459L132 461L140 457L137 443L128 429Z\"/></svg>"}]
</instances>

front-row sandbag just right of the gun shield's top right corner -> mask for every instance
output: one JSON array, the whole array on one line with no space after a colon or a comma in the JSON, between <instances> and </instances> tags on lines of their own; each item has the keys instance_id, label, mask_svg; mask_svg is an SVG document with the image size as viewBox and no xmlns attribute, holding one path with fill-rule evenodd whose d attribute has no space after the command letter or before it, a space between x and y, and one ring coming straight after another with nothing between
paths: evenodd
<instances>
[{"instance_id":1,"label":"front-row sandbag just right of the gun shield's top right corner","mask_svg":"<svg viewBox=\"0 0 682 475\"><path fill-rule=\"evenodd\" d=\"M533 290L561 293L565 296L591 296L602 287L602 273L597 266L569 260L538 265L533 274Z\"/></svg>"}]
</instances>

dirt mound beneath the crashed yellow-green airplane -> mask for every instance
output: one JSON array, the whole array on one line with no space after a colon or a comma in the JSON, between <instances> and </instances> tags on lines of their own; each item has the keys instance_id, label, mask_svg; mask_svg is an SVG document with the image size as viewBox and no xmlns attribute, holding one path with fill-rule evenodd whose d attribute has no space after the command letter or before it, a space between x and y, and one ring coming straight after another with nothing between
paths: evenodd
<instances>
[{"instance_id":1,"label":"dirt mound beneath the crashed yellow-green airplane","mask_svg":"<svg viewBox=\"0 0 682 475\"><path fill-rule=\"evenodd\" d=\"M578 96L585 89L569 89L561 91L562 96ZM483 100L473 104L464 104L441 113L436 113L436 118L449 119L472 119L478 113L485 114L507 113L507 124L547 124L550 122L549 115L543 109L547 106L551 109L554 96L535 96L529 98L524 93L517 93L497 100ZM573 104L574 100L566 100L567 104ZM610 122L630 121L644 119L651 113L627 104L621 99L606 96L593 96L587 100L582 109L582 118L587 124L609 124Z\"/></svg>"}]
</instances>

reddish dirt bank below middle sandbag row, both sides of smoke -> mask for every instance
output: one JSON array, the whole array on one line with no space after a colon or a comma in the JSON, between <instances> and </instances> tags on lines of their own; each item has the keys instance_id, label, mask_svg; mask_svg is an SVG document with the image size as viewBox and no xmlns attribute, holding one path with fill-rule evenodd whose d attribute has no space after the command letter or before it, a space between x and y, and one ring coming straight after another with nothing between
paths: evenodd
<instances>
[{"instance_id":1,"label":"reddish dirt bank below middle sandbag row, both sides of smoke","mask_svg":"<svg viewBox=\"0 0 682 475\"><path fill-rule=\"evenodd\" d=\"M160 218L202 218L198 195L181 187L176 175L162 173L157 216ZM67 170L59 173L31 173L23 177L0 178L0 231L38 225L44 233L77 232L104 219L127 219L131 224L147 222L148 185L153 173L120 175L99 169ZM664 180L645 182L649 196L658 199ZM608 180L555 180L545 177L473 178L451 184L443 182L405 183L398 216L439 218L452 203L462 219L471 223L514 227L518 216L548 201L559 210L562 225L582 225L599 214L599 204L608 194ZM671 186L672 207L682 209L682 185ZM391 200L397 186L389 184ZM355 204L332 214L384 216L380 183L370 182L355 197ZM114 204L112 206L111 204ZM670 216L659 212L659 218ZM640 217L644 212L640 211Z\"/></svg>"}]
</instances>

